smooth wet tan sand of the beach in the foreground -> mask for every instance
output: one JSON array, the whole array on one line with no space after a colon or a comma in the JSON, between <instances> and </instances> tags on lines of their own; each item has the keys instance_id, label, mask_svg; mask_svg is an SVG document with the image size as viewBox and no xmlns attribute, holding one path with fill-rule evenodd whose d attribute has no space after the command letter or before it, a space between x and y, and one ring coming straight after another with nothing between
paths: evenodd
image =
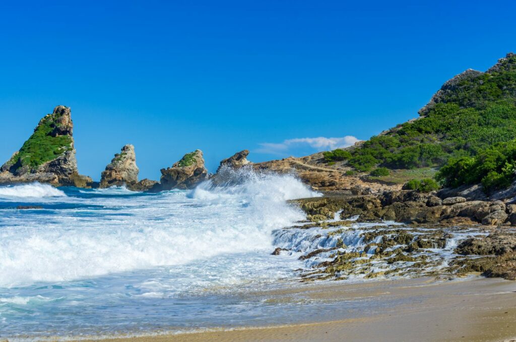
<instances>
[{"instance_id":1,"label":"smooth wet tan sand of the beach in the foreground","mask_svg":"<svg viewBox=\"0 0 516 342\"><path fill-rule=\"evenodd\" d=\"M143 336L108 341L509 341L516 340L516 282L496 278L432 278L361 284L313 284L267 294L285 300L302 293L314 300L396 299L382 312L327 322Z\"/></svg>"}]
</instances>

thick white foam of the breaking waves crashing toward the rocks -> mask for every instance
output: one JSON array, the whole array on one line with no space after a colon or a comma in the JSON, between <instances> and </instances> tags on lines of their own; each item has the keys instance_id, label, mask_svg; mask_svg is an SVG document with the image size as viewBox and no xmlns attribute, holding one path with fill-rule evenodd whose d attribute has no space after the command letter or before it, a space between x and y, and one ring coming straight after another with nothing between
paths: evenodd
<instances>
[{"instance_id":1,"label":"thick white foam of the breaking waves crashing toward the rocks","mask_svg":"<svg viewBox=\"0 0 516 342\"><path fill-rule=\"evenodd\" d=\"M0 222L0 286L186 265L217 255L270 254L271 231L304 219L285 200L317 195L292 175L241 170L233 177L241 181L205 182L192 192L80 199L82 205L100 206L96 211L56 210L35 220L10 217ZM44 185L30 186L50 193ZM232 260L215 273L238 282L235 270L250 267L243 263Z\"/></svg>"}]
</instances>

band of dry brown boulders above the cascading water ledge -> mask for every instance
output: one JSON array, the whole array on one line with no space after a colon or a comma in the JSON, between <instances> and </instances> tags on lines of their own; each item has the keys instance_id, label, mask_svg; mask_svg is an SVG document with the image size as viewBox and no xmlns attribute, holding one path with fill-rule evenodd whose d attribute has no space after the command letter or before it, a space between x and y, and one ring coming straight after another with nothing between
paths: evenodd
<instances>
[{"instance_id":1,"label":"band of dry brown boulders above the cascading water ledge","mask_svg":"<svg viewBox=\"0 0 516 342\"><path fill-rule=\"evenodd\" d=\"M338 195L294 200L313 221L358 216L358 222L395 221L400 223L516 224L516 205L502 201L466 201L463 198L441 199L416 191L384 191L373 195ZM514 223L513 223L514 222Z\"/></svg>"}]
</instances>

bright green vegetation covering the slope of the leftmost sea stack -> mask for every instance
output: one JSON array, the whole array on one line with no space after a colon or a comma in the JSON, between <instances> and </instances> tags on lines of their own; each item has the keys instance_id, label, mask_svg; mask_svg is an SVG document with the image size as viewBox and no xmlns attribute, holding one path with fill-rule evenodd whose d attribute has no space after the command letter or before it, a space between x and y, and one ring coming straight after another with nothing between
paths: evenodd
<instances>
[{"instance_id":1,"label":"bright green vegetation covering the slope of the leftmost sea stack","mask_svg":"<svg viewBox=\"0 0 516 342\"><path fill-rule=\"evenodd\" d=\"M52 133L59 123L55 121L55 114L49 114L41 119L38 127L20 151L8 162L17 167L25 167L31 170L56 159L60 154L72 149L72 137L70 135L57 135Z\"/></svg>"}]
</instances>

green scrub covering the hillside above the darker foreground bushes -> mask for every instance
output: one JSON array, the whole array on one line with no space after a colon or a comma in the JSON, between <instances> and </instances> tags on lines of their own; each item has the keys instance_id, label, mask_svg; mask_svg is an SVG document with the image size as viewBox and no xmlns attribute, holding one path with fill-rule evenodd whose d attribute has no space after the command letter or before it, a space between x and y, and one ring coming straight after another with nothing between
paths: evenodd
<instances>
[{"instance_id":1,"label":"green scrub covering the hillside above the darker foreground bushes","mask_svg":"<svg viewBox=\"0 0 516 342\"><path fill-rule=\"evenodd\" d=\"M454 77L420 115L360 146L339 151L341 157L335 155L337 150L325 152L325 160L346 160L360 172L377 166L440 167L511 141L516 138L516 55L508 54L486 73L469 70ZM500 167L494 171L503 172ZM486 181L501 182L495 174Z\"/></svg>"}]
</instances>

